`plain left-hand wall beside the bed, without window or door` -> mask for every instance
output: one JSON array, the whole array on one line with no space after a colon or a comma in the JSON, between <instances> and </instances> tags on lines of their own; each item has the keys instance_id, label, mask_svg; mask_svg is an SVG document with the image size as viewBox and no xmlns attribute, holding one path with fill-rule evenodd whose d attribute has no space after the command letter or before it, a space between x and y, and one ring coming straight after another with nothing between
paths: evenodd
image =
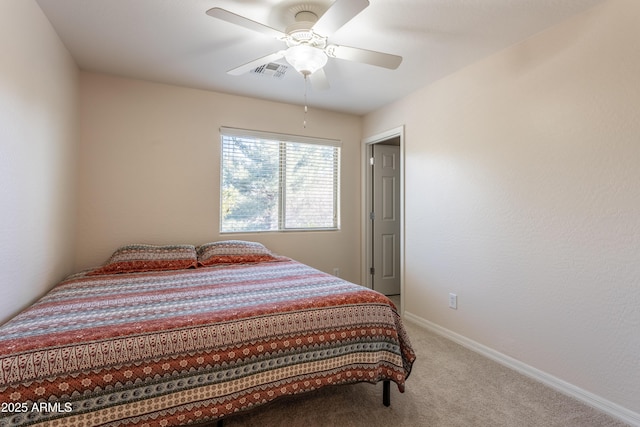
<instances>
[{"instance_id":1,"label":"plain left-hand wall beside the bed, without window or door","mask_svg":"<svg viewBox=\"0 0 640 427\"><path fill-rule=\"evenodd\" d=\"M0 323L73 268L77 67L35 1L0 1Z\"/></svg>"}]
</instances>

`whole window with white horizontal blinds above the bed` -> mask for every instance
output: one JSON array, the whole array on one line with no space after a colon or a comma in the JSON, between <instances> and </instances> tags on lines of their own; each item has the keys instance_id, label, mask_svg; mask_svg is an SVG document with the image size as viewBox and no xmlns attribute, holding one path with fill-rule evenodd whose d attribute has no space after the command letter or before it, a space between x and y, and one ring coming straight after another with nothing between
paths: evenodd
<instances>
[{"instance_id":1,"label":"whole window with white horizontal blinds above the bed","mask_svg":"<svg viewBox=\"0 0 640 427\"><path fill-rule=\"evenodd\" d=\"M339 141L220 133L221 232L339 228Z\"/></svg>"}]
</instances>

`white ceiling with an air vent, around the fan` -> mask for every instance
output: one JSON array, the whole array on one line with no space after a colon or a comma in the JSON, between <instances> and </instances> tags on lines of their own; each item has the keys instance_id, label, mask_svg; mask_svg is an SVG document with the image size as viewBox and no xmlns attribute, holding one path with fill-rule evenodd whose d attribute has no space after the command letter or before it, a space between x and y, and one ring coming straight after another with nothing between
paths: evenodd
<instances>
[{"instance_id":1,"label":"white ceiling with an air vent, around the fan","mask_svg":"<svg viewBox=\"0 0 640 427\"><path fill-rule=\"evenodd\" d=\"M212 18L221 7L284 30L300 4L333 0L37 0L83 70L292 104L305 83L227 70L281 50L283 42ZM341 0L349 1L349 0ZM603 0L370 0L331 43L400 55L396 70L329 59L329 90L311 107L365 114L518 43ZM284 60L283 60L284 61Z\"/></svg>"}]
</instances>

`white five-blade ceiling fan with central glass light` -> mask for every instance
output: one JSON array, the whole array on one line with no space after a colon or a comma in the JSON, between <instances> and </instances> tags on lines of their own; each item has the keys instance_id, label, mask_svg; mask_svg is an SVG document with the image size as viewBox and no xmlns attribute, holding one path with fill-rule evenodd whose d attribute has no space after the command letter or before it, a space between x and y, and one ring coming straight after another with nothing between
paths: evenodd
<instances>
[{"instance_id":1,"label":"white five-blade ceiling fan with central glass light","mask_svg":"<svg viewBox=\"0 0 640 427\"><path fill-rule=\"evenodd\" d=\"M284 31L277 30L228 10L214 7L207 15L232 24L275 37L287 44L287 48L255 59L227 71L228 74L241 75L261 65L285 58L305 79L309 77L316 89L328 89L329 83L323 67L329 58L361 62L395 70L402 57L388 53L360 49L357 47L329 44L328 38L340 27L353 19L369 6L369 0L336 0L321 16L311 7L301 5L295 14L295 22Z\"/></svg>"}]
</instances>

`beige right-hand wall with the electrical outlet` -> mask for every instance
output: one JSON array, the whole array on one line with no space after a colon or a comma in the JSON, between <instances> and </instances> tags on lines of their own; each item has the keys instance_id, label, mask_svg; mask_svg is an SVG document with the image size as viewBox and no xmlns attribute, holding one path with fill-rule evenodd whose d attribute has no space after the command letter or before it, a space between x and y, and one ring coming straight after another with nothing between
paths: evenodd
<instances>
[{"instance_id":1,"label":"beige right-hand wall with the electrical outlet","mask_svg":"<svg viewBox=\"0 0 640 427\"><path fill-rule=\"evenodd\" d=\"M406 311L636 415L638 16L604 3L363 125L406 125Z\"/></svg>"}]
</instances>

